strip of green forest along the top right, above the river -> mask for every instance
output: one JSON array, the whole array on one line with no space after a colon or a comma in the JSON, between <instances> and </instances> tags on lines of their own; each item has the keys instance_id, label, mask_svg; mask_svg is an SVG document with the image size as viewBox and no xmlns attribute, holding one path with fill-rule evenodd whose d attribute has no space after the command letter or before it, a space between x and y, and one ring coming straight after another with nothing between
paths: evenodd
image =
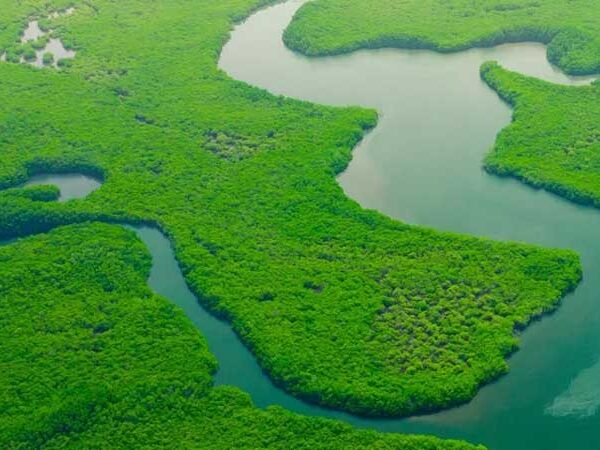
<instances>
[{"instance_id":1,"label":"strip of green forest along the top right, above the river","mask_svg":"<svg viewBox=\"0 0 600 450\"><path fill-rule=\"evenodd\" d=\"M308 55L358 48L459 51L507 42L548 44L551 62L571 74L600 71L596 0L316 0L284 39Z\"/></svg>"}]
</instances>

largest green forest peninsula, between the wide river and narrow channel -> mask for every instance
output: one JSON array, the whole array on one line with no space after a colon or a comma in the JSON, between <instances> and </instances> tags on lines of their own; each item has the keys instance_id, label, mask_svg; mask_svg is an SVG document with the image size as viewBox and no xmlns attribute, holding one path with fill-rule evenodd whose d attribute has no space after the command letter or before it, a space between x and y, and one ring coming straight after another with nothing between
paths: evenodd
<instances>
[{"instance_id":1,"label":"largest green forest peninsula, between the wide river and narrow channel","mask_svg":"<svg viewBox=\"0 0 600 450\"><path fill-rule=\"evenodd\" d=\"M0 185L92 173L88 199L0 193L0 234L90 219L155 223L192 290L290 392L363 414L470 399L506 372L514 328L580 278L577 256L407 226L335 181L373 111L274 97L216 67L234 19L261 2L77 3L51 28L61 71L0 64ZM65 2L10 3L24 18Z\"/></svg>"}]
</instances>

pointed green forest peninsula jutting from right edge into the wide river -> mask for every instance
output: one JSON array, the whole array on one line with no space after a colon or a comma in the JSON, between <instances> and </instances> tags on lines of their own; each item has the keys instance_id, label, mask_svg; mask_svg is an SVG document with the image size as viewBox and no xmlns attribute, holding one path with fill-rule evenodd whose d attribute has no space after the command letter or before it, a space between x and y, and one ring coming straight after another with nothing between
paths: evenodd
<instances>
[{"instance_id":1,"label":"pointed green forest peninsula jutting from right edge into the wide river","mask_svg":"<svg viewBox=\"0 0 600 450\"><path fill-rule=\"evenodd\" d=\"M600 84L560 86L495 63L484 65L481 74L515 109L486 169L600 206Z\"/></svg>"}]
</instances>

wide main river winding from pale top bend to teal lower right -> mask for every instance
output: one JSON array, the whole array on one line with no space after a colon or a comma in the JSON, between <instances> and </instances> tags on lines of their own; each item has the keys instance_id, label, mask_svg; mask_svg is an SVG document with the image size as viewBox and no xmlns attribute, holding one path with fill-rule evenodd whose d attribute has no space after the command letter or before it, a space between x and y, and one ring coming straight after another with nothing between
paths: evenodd
<instances>
[{"instance_id":1,"label":"wide main river winding from pale top bend to teal lower right","mask_svg":"<svg viewBox=\"0 0 600 450\"><path fill-rule=\"evenodd\" d=\"M480 80L479 67L497 60L555 83L585 84L591 78L564 75L535 43L449 55L387 49L305 58L281 41L302 3L267 8L236 27L220 67L276 94L376 108L377 128L339 177L350 197L404 222L571 248L584 268L575 294L523 334L510 374L484 387L468 405L406 420L337 417L384 431L464 438L497 450L600 448L600 212L481 169L511 111ZM259 404L269 403L264 394L249 391Z\"/></svg>"}]
</instances>

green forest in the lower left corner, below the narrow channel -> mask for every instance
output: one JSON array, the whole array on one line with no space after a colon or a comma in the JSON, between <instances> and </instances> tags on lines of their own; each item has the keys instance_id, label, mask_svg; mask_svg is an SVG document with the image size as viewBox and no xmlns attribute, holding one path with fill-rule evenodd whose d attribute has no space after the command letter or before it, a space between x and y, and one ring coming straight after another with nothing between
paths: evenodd
<instances>
[{"instance_id":1,"label":"green forest in the lower left corner, below the narrow channel","mask_svg":"<svg viewBox=\"0 0 600 450\"><path fill-rule=\"evenodd\" d=\"M117 226L75 225L0 248L0 446L471 449L356 431L212 387L216 361L146 286L150 255Z\"/></svg>"}]
</instances>

